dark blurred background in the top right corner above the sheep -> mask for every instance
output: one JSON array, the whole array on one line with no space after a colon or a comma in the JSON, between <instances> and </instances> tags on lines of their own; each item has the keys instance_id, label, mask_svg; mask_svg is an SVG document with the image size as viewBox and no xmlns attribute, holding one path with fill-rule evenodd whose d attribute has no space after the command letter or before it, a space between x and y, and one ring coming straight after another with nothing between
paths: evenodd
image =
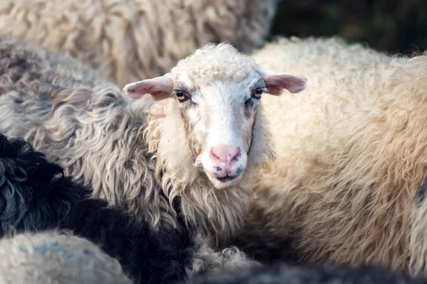
<instances>
[{"instance_id":1,"label":"dark blurred background in the top right corner above the sheep","mask_svg":"<svg viewBox=\"0 0 427 284\"><path fill-rule=\"evenodd\" d=\"M275 35L340 35L387 53L427 49L427 0L285 0L273 21Z\"/></svg>"}]
</instances>

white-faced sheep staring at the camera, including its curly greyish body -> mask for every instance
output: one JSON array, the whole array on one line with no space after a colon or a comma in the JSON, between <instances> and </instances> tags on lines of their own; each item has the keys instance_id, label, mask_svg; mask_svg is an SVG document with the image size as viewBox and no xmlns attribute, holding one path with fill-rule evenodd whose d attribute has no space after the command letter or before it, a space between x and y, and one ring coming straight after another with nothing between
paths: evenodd
<instances>
[{"instance_id":1,"label":"white-faced sheep staring at the camera, including its curly greyish body","mask_svg":"<svg viewBox=\"0 0 427 284\"><path fill-rule=\"evenodd\" d=\"M206 44L124 92L107 83L68 87L72 76L16 40L0 40L0 60L0 131L47 153L94 197L143 210L154 228L174 228L182 216L218 247L241 229L252 177L274 157L260 94L306 83L229 44ZM149 111L137 100L145 92L155 101Z\"/></svg>"}]
</instances>

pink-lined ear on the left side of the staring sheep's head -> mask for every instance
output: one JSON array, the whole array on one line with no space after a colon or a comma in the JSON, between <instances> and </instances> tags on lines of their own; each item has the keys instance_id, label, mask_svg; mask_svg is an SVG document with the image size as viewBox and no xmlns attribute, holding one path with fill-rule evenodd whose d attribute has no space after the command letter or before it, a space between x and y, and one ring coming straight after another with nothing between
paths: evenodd
<instances>
[{"instance_id":1,"label":"pink-lined ear on the left side of the staring sheep's head","mask_svg":"<svg viewBox=\"0 0 427 284\"><path fill-rule=\"evenodd\" d=\"M151 94L155 101L167 99L172 95L173 90L174 80L171 73L153 79L130 83L123 88L123 92L133 99L140 99L144 94Z\"/></svg>"}]
</instances>

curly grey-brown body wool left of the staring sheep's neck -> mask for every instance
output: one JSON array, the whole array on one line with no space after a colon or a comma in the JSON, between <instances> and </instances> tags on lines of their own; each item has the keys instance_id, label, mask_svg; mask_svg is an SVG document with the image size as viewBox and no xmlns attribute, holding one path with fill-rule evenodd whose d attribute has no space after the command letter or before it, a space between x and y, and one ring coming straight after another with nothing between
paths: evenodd
<instances>
[{"instance_id":1,"label":"curly grey-brown body wool left of the staring sheep's neck","mask_svg":"<svg viewBox=\"0 0 427 284\"><path fill-rule=\"evenodd\" d=\"M137 217L144 208L154 227L175 226L155 185L143 111L130 109L117 86L82 78L95 75L72 58L40 50L0 37L0 131L48 153L66 175L90 185L93 197Z\"/></svg>"}]
</instances>

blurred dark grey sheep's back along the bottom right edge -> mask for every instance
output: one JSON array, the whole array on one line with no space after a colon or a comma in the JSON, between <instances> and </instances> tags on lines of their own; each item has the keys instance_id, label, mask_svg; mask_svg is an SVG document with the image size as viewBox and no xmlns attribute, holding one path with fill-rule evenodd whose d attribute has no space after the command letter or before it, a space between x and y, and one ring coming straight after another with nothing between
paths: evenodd
<instances>
[{"instance_id":1,"label":"blurred dark grey sheep's back along the bottom right edge","mask_svg":"<svg viewBox=\"0 0 427 284\"><path fill-rule=\"evenodd\" d=\"M421 284L425 278L410 278L406 273L391 273L381 267L364 266L290 266L286 263L247 268L221 273L204 273L186 284ZM184 283L183 283L184 284Z\"/></svg>"}]
</instances>

